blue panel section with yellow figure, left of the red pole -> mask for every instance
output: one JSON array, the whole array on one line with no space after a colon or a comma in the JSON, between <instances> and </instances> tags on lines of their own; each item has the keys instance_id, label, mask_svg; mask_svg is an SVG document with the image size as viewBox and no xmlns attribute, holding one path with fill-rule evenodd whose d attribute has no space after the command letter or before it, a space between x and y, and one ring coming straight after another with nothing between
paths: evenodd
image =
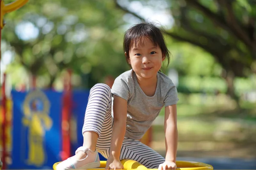
<instances>
[{"instance_id":1,"label":"blue panel section with yellow figure, left of the red pole","mask_svg":"<svg viewBox=\"0 0 256 170\"><path fill-rule=\"evenodd\" d=\"M60 161L62 94L29 96L12 91L12 164L8 169L41 169Z\"/></svg>"}]
</instances>

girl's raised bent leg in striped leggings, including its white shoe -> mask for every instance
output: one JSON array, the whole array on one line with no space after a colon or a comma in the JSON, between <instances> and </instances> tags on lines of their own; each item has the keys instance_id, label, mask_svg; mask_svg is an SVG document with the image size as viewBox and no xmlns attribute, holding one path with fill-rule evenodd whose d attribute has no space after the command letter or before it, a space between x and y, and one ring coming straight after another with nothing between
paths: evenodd
<instances>
[{"instance_id":1,"label":"girl's raised bent leg in striped leggings, including its white shoe","mask_svg":"<svg viewBox=\"0 0 256 170\"><path fill-rule=\"evenodd\" d=\"M75 156L58 164L57 170L91 169L99 166L96 143L99 136L104 135L108 122L112 122L108 119L111 117L111 103L111 89L108 85L96 84L91 88L82 129L83 147L78 148Z\"/></svg>"}]
</instances>

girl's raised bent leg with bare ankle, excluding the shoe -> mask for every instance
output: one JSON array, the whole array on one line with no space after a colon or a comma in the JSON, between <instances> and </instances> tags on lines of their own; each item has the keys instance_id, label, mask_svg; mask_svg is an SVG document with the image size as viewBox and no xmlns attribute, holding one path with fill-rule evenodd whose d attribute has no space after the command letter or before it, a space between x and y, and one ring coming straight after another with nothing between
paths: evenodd
<instances>
[{"instance_id":1,"label":"girl's raised bent leg with bare ankle, excluding the shoe","mask_svg":"<svg viewBox=\"0 0 256 170\"><path fill-rule=\"evenodd\" d=\"M108 85L96 84L91 88L82 129L84 147L95 150L99 137L105 140L111 137L111 101L111 89ZM107 135L106 130L110 131Z\"/></svg>"}]
</instances>

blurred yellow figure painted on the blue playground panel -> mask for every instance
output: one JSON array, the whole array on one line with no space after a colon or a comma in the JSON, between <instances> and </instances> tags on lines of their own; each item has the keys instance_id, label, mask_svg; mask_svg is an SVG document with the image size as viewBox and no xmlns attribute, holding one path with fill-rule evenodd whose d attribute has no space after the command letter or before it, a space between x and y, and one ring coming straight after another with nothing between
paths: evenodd
<instances>
[{"instance_id":1,"label":"blurred yellow figure painted on the blue playground panel","mask_svg":"<svg viewBox=\"0 0 256 170\"><path fill-rule=\"evenodd\" d=\"M49 100L42 91L35 90L27 94L23 104L22 123L28 128L29 165L40 167L45 162L45 131L52 127L49 108Z\"/></svg>"}]
</instances>

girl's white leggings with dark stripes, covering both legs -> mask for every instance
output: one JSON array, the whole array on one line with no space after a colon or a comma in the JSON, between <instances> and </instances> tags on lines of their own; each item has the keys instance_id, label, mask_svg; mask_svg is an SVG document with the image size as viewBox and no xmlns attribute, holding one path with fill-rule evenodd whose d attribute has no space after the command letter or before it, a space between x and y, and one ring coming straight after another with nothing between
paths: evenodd
<instances>
[{"instance_id":1,"label":"girl's white leggings with dark stripes, covering both legs","mask_svg":"<svg viewBox=\"0 0 256 170\"><path fill-rule=\"evenodd\" d=\"M111 89L105 84L91 88L84 116L82 133L94 131L99 134L96 148L108 159L110 151L113 118L111 116ZM147 168L158 168L165 159L159 153L138 140L124 138L120 160L133 159Z\"/></svg>"}]
</instances>

